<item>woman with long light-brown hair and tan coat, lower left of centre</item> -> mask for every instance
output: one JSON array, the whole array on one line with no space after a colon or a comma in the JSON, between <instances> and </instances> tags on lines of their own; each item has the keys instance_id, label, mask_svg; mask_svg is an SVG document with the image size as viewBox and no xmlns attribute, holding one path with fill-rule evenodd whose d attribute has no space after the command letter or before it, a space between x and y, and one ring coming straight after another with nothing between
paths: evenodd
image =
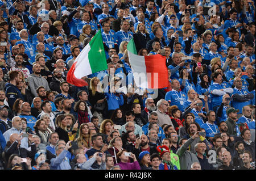
<instances>
[{"instance_id":1,"label":"woman with long light-brown hair and tan coat, lower left of centre","mask_svg":"<svg viewBox=\"0 0 256 181\"><path fill-rule=\"evenodd\" d=\"M76 138L77 145L83 149L90 149L92 140L90 135L90 128L86 123L82 123L79 128L79 136Z\"/></svg>"}]
</instances>

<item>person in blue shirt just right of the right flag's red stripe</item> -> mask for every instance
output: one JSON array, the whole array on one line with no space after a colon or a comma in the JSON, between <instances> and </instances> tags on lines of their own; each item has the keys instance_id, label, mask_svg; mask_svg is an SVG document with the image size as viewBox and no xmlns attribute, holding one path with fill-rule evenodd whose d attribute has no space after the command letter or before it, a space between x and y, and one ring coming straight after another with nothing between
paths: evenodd
<instances>
[{"instance_id":1,"label":"person in blue shirt just right of the right flag's red stripe","mask_svg":"<svg viewBox=\"0 0 256 181\"><path fill-rule=\"evenodd\" d=\"M179 82L181 85L181 91L185 92L186 94L188 94L188 91L191 89L196 90L196 86L192 82L192 78L189 73L189 69L181 69L180 70Z\"/></svg>"}]
</instances>

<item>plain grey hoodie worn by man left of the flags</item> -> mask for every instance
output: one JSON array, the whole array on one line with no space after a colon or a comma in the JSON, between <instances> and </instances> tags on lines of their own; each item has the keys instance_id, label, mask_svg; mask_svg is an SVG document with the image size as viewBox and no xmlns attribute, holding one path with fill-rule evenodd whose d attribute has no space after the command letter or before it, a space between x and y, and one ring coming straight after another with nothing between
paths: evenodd
<instances>
[{"instance_id":1,"label":"plain grey hoodie worn by man left of the flags","mask_svg":"<svg viewBox=\"0 0 256 181\"><path fill-rule=\"evenodd\" d=\"M29 83L30 90L34 96L38 96L36 89L38 89L40 86L43 86L46 91L50 90L47 80L41 75L38 77L34 74L30 74L27 78L27 82Z\"/></svg>"}]
</instances>

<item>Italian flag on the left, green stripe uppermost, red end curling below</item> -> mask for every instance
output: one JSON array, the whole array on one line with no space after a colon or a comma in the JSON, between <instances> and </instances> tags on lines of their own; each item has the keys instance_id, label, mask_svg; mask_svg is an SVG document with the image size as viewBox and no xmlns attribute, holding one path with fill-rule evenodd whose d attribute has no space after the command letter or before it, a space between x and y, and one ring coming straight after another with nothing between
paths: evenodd
<instances>
[{"instance_id":1,"label":"Italian flag on the left, green stripe uppermost, red end curling below","mask_svg":"<svg viewBox=\"0 0 256 181\"><path fill-rule=\"evenodd\" d=\"M88 86L88 83L84 79L81 79L82 77L106 69L108 69L108 65L102 43L101 31L99 30L84 49L82 49L79 56L76 57L75 62L68 71L67 82L78 87Z\"/></svg>"}]
</instances>

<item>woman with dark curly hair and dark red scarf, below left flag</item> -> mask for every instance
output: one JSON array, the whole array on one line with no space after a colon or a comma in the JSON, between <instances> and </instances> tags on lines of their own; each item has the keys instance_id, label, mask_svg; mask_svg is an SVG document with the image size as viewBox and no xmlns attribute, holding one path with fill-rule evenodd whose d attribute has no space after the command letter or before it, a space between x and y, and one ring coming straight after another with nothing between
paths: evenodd
<instances>
[{"instance_id":1,"label":"woman with dark curly hair and dark red scarf, below left flag","mask_svg":"<svg viewBox=\"0 0 256 181\"><path fill-rule=\"evenodd\" d=\"M74 111L77 114L77 119L79 121L79 125L82 123L89 123L90 122L90 115L88 113L88 108L86 103L83 100L79 100L76 102L74 106Z\"/></svg>"}]
</instances>

